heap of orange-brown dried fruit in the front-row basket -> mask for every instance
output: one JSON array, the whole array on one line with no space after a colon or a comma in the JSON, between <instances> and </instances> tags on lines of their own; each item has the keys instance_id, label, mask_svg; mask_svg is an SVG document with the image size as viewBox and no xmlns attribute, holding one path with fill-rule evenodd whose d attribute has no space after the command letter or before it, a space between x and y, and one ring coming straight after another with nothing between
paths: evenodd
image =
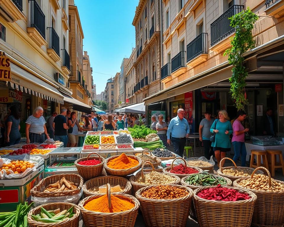
<instances>
[{"instance_id":1,"label":"heap of orange-brown dried fruit in the front-row basket","mask_svg":"<svg viewBox=\"0 0 284 227\"><path fill-rule=\"evenodd\" d=\"M188 195L188 192L184 189L173 187L170 185L158 185L151 187L148 190L141 193L141 196L149 199L178 199Z\"/></svg>"}]
</instances>

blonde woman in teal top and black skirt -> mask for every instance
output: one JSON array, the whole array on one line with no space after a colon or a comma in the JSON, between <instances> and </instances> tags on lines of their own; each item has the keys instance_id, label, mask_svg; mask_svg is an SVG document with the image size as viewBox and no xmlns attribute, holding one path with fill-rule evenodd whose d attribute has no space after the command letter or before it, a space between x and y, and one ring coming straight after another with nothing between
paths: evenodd
<instances>
[{"instance_id":1,"label":"blonde woman in teal top and black skirt","mask_svg":"<svg viewBox=\"0 0 284 227\"><path fill-rule=\"evenodd\" d=\"M230 134L233 133L233 128L230 121L227 121L228 113L225 110L220 110L219 119L216 119L210 128L210 132L215 132L215 141L212 142L212 147L215 157L220 167L220 161L226 157L226 152L231 148Z\"/></svg>"}]
</instances>

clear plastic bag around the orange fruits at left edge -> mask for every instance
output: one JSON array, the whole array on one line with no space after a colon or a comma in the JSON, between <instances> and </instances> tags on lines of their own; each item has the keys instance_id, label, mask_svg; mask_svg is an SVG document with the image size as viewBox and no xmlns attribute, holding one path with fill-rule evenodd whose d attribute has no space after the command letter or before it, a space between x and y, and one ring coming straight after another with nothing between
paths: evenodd
<instances>
[{"instance_id":1,"label":"clear plastic bag around the orange fruits at left edge","mask_svg":"<svg viewBox=\"0 0 284 227\"><path fill-rule=\"evenodd\" d=\"M36 156L36 155L27 155L27 154L23 154L23 155L5 155L5 157L0 158L0 168L2 168L2 166L4 164L8 164L10 162L12 162L13 160L20 160L20 161L29 161L35 164L35 166L33 168L27 168L25 172L21 173L21 174L14 174L14 172L12 170L9 170L7 174L6 171L1 170L0 171L0 177L2 179L19 179L19 178L23 178L24 176L27 176L28 174L30 174L31 171L33 171L34 169L38 168L39 166L43 165L44 159L40 156Z\"/></svg>"}]
</instances>

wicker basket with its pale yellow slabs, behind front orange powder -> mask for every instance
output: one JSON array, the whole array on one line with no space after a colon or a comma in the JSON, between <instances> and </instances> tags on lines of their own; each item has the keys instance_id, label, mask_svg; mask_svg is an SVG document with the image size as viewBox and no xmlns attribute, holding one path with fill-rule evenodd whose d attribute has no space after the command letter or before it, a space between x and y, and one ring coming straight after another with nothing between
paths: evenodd
<instances>
[{"instance_id":1,"label":"wicker basket with its pale yellow slabs, behind front orange powder","mask_svg":"<svg viewBox=\"0 0 284 227\"><path fill-rule=\"evenodd\" d=\"M107 183L110 184L112 194L131 194L132 185L124 177L99 176L85 182L83 185L84 197L97 194L106 194Z\"/></svg>"}]
</instances>

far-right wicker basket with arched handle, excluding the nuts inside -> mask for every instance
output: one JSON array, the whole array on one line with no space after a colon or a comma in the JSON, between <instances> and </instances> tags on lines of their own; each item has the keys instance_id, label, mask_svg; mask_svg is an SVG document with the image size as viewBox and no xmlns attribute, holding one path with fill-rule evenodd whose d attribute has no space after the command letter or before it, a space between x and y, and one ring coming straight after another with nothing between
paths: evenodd
<instances>
[{"instance_id":1,"label":"far-right wicker basket with arched handle, excluding the nuts inside","mask_svg":"<svg viewBox=\"0 0 284 227\"><path fill-rule=\"evenodd\" d=\"M269 177L269 184L271 185L271 176L269 171L264 167L258 167L251 174L253 178L255 172L259 169L266 171ZM244 177L237 179L233 182L234 187L244 188L238 183L243 179L250 177ZM275 180L277 181L277 180ZM284 184L283 181L277 181L280 184ZM256 194L257 200L254 205L254 214L252 217L251 225L257 227L283 227L284 226L284 191L272 192L264 190L256 190L245 188Z\"/></svg>"}]
</instances>

